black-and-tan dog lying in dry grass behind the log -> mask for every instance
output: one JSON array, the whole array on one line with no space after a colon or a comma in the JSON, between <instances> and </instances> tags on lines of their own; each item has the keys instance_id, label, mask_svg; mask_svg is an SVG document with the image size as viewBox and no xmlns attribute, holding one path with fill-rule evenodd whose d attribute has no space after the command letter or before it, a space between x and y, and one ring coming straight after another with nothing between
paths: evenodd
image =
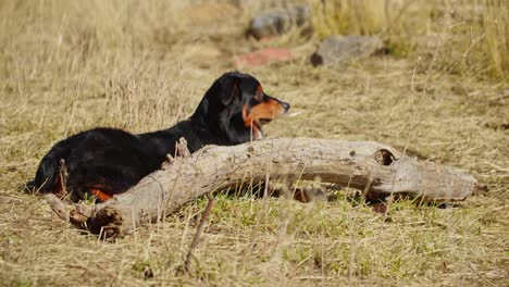
<instances>
[{"instance_id":1,"label":"black-and-tan dog lying in dry grass behind the log","mask_svg":"<svg viewBox=\"0 0 509 287\"><path fill-rule=\"evenodd\" d=\"M173 127L146 134L99 127L59 141L42 158L33 186L42 194L70 194L73 201L94 196L103 202L159 170L179 138L190 152L261 139L262 126L289 108L266 95L253 76L228 72L207 90L195 113Z\"/></svg>"}]
</instances>

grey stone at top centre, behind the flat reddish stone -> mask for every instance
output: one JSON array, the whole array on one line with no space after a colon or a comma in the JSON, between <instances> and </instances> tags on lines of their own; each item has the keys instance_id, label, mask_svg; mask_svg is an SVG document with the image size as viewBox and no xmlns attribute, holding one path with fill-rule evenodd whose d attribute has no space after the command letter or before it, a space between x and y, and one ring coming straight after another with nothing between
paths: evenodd
<instances>
[{"instance_id":1,"label":"grey stone at top centre, behind the flat reddish stone","mask_svg":"<svg viewBox=\"0 0 509 287\"><path fill-rule=\"evenodd\" d=\"M247 34L257 39L283 34L293 25L302 26L309 23L309 12L310 9L307 5L264 11L251 20Z\"/></svg>"}]
</instances>

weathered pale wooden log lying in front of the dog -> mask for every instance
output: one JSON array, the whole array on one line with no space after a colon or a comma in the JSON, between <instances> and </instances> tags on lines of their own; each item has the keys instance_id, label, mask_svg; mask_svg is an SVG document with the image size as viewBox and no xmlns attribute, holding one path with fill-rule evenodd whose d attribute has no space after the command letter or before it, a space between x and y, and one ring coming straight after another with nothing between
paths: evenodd
<instances>
[{"instance_id":1,"label":"weathered pale wooden log lying in front of the dog","mask_svg":"<svg viewBox=\"0 0 509 287\"><path fill-rule=\"evenodd\" d=\"M184 152L185 153L185 152ZM197 197L239 182L313 180L349 186L369 198L405 195L425 201L458 201L472 194L474 177L432 162L418 162L371 141L278 138L234 147L208 146L175 158L127 192L96 204L64 208L49 197L61 217L105 237L131 234L162 220Z\"/></svg>"}]
</instances>

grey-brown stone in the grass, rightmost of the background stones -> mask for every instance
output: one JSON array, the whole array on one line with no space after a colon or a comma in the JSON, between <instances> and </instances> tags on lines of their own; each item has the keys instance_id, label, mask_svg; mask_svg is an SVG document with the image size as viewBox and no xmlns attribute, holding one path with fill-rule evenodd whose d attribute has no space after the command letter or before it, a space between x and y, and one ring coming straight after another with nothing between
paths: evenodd
<instances>
[{"instance_id":1,"label":"grey-brown stone in the grass, rightmost of the background stones","mask_svg":"<svg viewBox=\"0 0 509 287\"><path fill-rule=\"evenodd\" d=\"M383 47L384 42L378 36L332 35L320 43L311 55L311 63L314 66L340 64L347 60L369 57Z\"/></svg>"}]
</instances>

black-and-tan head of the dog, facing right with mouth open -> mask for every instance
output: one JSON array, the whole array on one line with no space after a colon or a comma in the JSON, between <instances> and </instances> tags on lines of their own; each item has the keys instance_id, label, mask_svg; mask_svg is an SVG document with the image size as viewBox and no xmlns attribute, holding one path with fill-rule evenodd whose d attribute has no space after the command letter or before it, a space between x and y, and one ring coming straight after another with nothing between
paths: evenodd
<instances>
[{"instance_id":1,"label":"black-and-tan head of the dog, facing right with mouth open","mask_svg":"<svg viewBox=\"0 0 509 287\"><path fill-rule=\"evenodd\" d=\"M191 120L226 137L229 144L240 144L262 138L262 125L288 109L288 103L266 95L253 76L231 72L209 88Z\"/></svg>"}]
</instances>

